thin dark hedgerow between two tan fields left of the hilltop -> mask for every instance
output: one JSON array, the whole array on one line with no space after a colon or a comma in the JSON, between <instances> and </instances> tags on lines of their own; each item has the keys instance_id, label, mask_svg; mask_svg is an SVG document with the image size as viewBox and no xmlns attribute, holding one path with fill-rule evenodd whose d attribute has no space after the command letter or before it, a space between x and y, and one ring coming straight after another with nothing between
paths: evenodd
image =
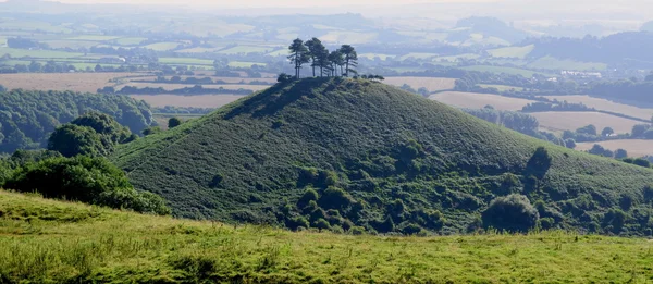
<instances>
[{"instance_id":1,"label":"thin dark hedgerow between two tan fields left of the hilltop","mask_svg":"<svg viewBox=\"0 0 653 284\"><path fill-rule=\"evenodd\" d=\"M120 90L115 90L113 87L104 87L98 89L99 94L115 94L115 95L176 95L176 96L197 96L197 95L242 95L247 96L254 94L250 89L225 89L219 88L205 88L201 85L195 85L193 87L185 87L181 89L168 90L162 87L134 87L125 86Z\"/></svg>"}]
</instances>

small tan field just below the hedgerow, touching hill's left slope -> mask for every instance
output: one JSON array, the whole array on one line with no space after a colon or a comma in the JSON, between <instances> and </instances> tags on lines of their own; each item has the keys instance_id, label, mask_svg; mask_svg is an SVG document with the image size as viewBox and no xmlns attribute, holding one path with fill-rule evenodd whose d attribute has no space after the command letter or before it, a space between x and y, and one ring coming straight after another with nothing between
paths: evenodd
<instances>
[{"instance_id":1,"label":"small tan field just below the hedgerow, touching hill's left slope","mask_svg":"<svg viewBox=\"0 0 653 284\"><path fill-rule=\"evenodd\" d=\"M155 108L165 106L185 108L220 108L245 96L236 95L204 95L204 96L174 96L174 95L132 95L137 100L145 100Z\"/></svg>"}]
</instances>

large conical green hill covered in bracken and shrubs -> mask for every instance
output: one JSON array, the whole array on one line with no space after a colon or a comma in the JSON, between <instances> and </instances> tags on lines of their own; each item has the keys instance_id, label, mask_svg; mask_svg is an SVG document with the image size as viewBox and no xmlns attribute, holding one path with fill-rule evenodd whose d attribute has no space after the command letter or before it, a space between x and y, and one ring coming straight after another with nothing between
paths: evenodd
<instances>
[{"instance_id":1,"label":"large conical green hill covered in bracken and shrubs","mask_svg":"<svg viewBox=\"0 0 653 284\"><path fill-rule=\"evenodd\" d=\"M532 159L539 146L550 165ZM479 229L492 200L520 194L543 227L651 233L651 170L369 81L275 85L112 160L187 218L446 234Z\"/></svg>"}]
</instances>

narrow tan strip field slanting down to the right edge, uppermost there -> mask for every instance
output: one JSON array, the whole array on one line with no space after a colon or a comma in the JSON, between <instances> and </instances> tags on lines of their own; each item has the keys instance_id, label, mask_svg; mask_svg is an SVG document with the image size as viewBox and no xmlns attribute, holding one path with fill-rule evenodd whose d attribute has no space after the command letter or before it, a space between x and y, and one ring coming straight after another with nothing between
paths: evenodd
<instances>
[{"instance_id":1,"label":"narrow tan strip field slanting down to the right edge, uppermost there","mask_svg":"<svg viewBox=\"0 0 653 284\"><path fill-rule=\"evenodd\" d=\"M626 114L629 116L650 120L653 116L653 109L643 109L633 106L628 106L624 103L618 103L614 101L609 101L606 99L592 98L590 96L575 95L575 96L552 96L545 97L547 99L557 99L559 101L568 101L579 103L582 102L590 108L594 108L596 110L605 110L616 113Z\"/></svg>"}]
</instances>

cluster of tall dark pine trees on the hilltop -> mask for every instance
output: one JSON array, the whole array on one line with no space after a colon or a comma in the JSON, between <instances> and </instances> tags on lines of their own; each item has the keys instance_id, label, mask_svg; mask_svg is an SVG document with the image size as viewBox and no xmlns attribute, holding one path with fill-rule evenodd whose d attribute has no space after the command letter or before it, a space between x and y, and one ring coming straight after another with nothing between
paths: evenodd
<instances>
[{"instance_id":1,"label":"cluster of tall dark pine trees on the hilltop","mask_svg":"<svg viewBox=\"0 0 653 284\"><path fill-rule=\"evenodd\" d=\"M358 54L350 45L343 45L341 48L329 51L318 38L311 38L306 42L299 38L295 39L288 47L291 64L295 66L295 77L299 78L300 71L305 64L310 63L312 75L316 77L316 70L319 70L320 76L345 76L357 74L355 67L358 65ZM340 73L338 73L340 72Z\"/></svg>"}]
</instances>

